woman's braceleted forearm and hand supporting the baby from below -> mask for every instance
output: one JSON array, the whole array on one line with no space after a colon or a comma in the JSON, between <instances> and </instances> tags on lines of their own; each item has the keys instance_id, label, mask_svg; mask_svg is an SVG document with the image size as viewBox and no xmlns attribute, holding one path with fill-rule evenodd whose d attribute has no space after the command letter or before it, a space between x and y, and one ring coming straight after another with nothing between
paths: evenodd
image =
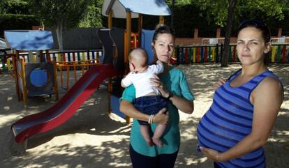
<instances>
[{"instance_id":1,"label":"woman's braceleted forearm and hand supporting the baby from below","mask_svg":"<svg viewBox=\"0 0 289 168\"><path fill-rule=\"evenodd\" d=\"M127 100L121 100L119 110L126 114L126 116L130 116L133 119L149 121L149 115L138 111L138 109L135 109L133 104ZM165 124L168 123L168 117L167 109L163 108L154 116L152 122Z\"/></svg>"}]
</instances>

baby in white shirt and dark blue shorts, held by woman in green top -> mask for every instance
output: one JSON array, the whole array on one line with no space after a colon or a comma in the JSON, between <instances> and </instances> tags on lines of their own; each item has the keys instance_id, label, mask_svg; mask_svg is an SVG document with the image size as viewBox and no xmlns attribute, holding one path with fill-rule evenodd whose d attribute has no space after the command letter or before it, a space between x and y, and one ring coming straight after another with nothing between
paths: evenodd
<instances>
[{"instance_id":1,"label":"baby in white shirt and dark blue shorts, held by woman in green top","mask_svg":"<svg viewBox=\"0 0 289 168\"><path fill-rule=\"evenodd\" d=\"M153 122L154 114L158 113L168 105L168 100L159 95L159 91L150 84L150 78L155 78L156 74L163 72L163 63L156 61L156 65L147 64L147 52L144 49L136 48L128 55L129 68L131 72L121 80L121 86L135 86L135 101L133 105L144 114L149 114L149 121L138 121L140 123L140 133L149 146L156 144L163 146L161 137L165 131L165 124L156 125L154 135L151 137L150 124Z\"/></svg>"}]
</instances>

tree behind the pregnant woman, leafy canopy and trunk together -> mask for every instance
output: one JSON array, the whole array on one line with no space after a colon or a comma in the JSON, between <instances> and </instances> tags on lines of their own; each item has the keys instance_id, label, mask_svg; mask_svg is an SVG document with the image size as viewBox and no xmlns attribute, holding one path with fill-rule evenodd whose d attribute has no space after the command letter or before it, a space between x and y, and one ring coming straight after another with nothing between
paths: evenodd
<instances>
[{"instance_id":1,"label":"tree behind the pregnant woman, leafy canopy and trunk together","mask_svg":"<svg viewBox=\"0 0 289 168\"><path fill-rule=\"evenodd\" d=\"M283 10L287 7L286 0L191 0L191 3L199 6L207 14L207 21L214 22L216 25L224 27L225 45L222 56L221 66L228 66L228 49L232 24L234 20L239 23L238 18L260 18L266 20L268 17L274 17L277 20L283 20ZM259 13L260 15L256 15ZM236 15L234 15L236 14ZM212 19L213 18L213 19Z\"/></svg>"}]
</instances>

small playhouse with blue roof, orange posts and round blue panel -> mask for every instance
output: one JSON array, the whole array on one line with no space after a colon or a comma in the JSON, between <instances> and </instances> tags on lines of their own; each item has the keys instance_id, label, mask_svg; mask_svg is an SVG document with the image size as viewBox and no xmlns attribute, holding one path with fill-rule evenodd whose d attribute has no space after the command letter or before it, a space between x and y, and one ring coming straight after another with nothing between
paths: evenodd
<instances>
[{"instance_id":1,"label":"small playhouse with blue roof, orange posts and round blue panel","mask_svg":"<svg viewBox=\"0 0 289 168\"><path fill-rule=\"evenodd\" d=\"M15 53L12 59L18 100L23 100L24 106L27 105L28 97L55 94L58 100L56 62L52 61L48 52L53 46L52 33L4 31L4 35L9 47ZM20 51L29 52L27 60L20 57ZM30 54L31 51L37 51L38 56L34 57Z\"/></svg>"}]
</instances>

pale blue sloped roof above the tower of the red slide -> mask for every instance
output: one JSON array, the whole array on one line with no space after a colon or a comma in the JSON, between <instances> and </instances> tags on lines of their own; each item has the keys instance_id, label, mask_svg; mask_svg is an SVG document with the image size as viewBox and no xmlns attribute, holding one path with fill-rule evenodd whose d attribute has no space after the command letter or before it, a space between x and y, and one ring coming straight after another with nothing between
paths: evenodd
<instances>
[{"instance_id":1,"label":"pale blue sloped roof above the tower of the red slide","mask_svg":"<svg viewBox=\"0 0 289 168\"><path fill-rule=\"evenodd\" d=\"M102 15L108 16L112 9L112 17L126 18L126 11L131 11L131 17L144 15L171 15L170 8L164 0L104 0Z\"/></svg>"}]
</instances>

